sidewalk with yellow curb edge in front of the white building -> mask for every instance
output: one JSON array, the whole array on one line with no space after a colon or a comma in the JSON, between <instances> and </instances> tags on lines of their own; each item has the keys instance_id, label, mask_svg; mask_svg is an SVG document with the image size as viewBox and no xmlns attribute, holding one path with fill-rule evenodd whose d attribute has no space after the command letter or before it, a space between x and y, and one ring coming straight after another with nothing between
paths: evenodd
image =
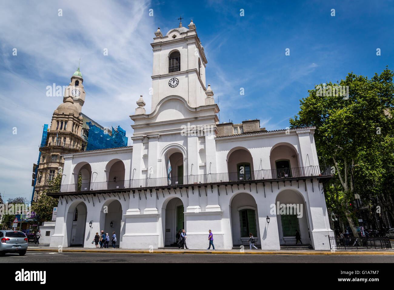
<instances>
[{"instance_id":1,"label":"sidewalk with yellow curb edge in front of the white building","mask_svg":"<svg viewBox=\"0 0 394 290\"><path fill-rule=\"evenodd\" d=\"M63 249L49 247L49 245L35 245L29 243L28 251L38 252L75 252L75 253L134 253L134 254L227 254L227 255L394 255L394 249L386 250L336 250L336 251L318 251L318 250L186 250L186 249L119 249L119 248L83 248L66 247Z\"/></svg>"}]
</instances>

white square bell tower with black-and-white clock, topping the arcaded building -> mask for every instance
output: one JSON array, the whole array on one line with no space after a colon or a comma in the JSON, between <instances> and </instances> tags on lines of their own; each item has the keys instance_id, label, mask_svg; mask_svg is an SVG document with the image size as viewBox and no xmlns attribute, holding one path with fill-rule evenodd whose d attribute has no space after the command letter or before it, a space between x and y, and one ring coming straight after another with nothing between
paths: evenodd
<instances>
[{"instance_id":1,"label":"white square bell tower with black-and-white clock, topping the arcaded building","mask_svg":"<svg viewBox=\"0 0 394 290\"><path fill-rule=\"evenodd\" d=\"M207 60L193 20L188 28L180 22L166 35L160 28L154 34L151 112L160 100L172 95L182 97L193 108L206 105L206 97L213 93L206 88ZM208 99L208 104L213 103L213 98Z\"/></svg>"}]
</instances>

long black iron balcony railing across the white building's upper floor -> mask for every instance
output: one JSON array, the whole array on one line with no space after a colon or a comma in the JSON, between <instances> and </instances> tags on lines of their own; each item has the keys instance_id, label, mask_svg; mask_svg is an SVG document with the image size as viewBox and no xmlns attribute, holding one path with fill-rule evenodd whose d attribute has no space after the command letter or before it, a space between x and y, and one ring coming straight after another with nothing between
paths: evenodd
<instances>
[{"instance_id":1,"label":"long black iron balcony railing across the white building's upper floor","mask_svg":"<svg viewBox=\"0 0 394 290\"><path fill-rule=\"evenodd\" d=\"M49 190L50 193L70 193L80 191L104 191L138 188L160 188L167 186L184 187L193 184L214 184L223 182L253 182L257 180L286 180L287 178L313 178L318 176L330 176L330 167L308 166L284 169L261 169L245 171L244 173L208 173L200 175L187 175L177 177L157 177L143 179L129 179L103 182L89 182L78 184L62 184Z\"/></svg>"}]
</instances>

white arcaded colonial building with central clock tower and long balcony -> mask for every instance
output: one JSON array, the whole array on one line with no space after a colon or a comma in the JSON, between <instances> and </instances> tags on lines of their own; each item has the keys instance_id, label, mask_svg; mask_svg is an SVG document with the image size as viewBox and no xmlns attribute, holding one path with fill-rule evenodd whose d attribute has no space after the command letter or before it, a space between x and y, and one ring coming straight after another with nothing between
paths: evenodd
<instances>
[{"instance_id":1,"label":"white arcaded colonial building with central clock tower and long balcony","mask_svg":"<svg viewBox=\"0 0 394 290\"><path fill-rule=\"evenodd\" d=\"M219 123L204 48L188 27L155 33L152 109L141 96L133 145L63 155L50 245L95 247L104 230L121 248L159 248L185 229L190 249L208 247L208 230L216 249L246 245L249 232L258 247L280 249L298 230L303 244L330 249L323 184L332 176L319 165L315 128Z\"/></svg>"}]
</instances>

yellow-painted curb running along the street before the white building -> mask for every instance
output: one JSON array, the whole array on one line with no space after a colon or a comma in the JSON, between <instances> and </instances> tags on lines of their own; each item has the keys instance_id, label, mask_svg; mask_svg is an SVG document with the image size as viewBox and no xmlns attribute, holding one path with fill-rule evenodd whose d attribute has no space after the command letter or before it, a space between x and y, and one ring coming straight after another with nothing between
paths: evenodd
<instances>
[{"instance_id":1,"label":"yellow-painted curb running along the street before the white building","mask_svg":"<svg viewBox=\"0 0 394 290\"><path fill-rule=\"evenodd\" d=\"M28 249L28 252L58 252L58 249ZM130 253L130 254L218 254L218 255L394 255L394 251L390 252L331 252L331 251L317 251L317 252L254 252L254 251L149 251L149 250L83 250L83 249L62 249L61 252L74 253Z\"/></svg>"}]
</instances>

